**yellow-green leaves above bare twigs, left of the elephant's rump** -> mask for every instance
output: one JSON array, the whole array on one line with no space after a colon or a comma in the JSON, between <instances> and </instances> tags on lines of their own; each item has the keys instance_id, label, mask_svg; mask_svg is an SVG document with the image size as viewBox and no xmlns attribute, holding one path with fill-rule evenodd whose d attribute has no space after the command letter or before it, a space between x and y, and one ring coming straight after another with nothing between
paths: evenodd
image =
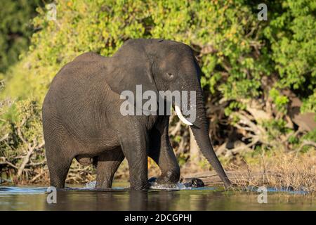
<instances>
[{"instance_id":1,"label":"yellow-green leaves above bare twigs, left of the elephant's rump","mask_svg":"<svg viewBox=\"0 0 316 225\"><path fill-rule=\"evenodd\" d=\"M41 109L32 100L3 104L0 110L0 157L18 163L21 158L17 157L25 153L29 144L43 140ZM43 160L44 155L40 155L34 160Z\"/></svg>"}]
</instances>

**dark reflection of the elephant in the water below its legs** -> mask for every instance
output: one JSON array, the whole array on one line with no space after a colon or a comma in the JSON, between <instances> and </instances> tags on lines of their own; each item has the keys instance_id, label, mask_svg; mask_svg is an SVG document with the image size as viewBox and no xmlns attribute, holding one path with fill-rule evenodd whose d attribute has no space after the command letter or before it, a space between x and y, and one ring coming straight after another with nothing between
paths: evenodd
<instances>
[{"instance_id":1,"label":"dark reflection of the elephant in the water below its legs","mask_svg":"<svg viewBox=\"0 0 316 225\"><path fill-rule=\"evenodd\" d=\"M58 191L58 204L46 204L44 210L168 210L180 198L176 192Z\"/></svg>"}]
</instances>

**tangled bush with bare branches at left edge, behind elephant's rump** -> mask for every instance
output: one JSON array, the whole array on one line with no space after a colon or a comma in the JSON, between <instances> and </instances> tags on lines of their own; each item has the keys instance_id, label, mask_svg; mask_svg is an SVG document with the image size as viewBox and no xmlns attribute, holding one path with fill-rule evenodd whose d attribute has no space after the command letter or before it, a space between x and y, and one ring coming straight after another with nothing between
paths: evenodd
<instances>
[{"instance_id":1,"label":"tangled bush with bare branches at left edge, behind elephant's rump","mask_svg":"<svg viewBox=\"0 0 316 225\"><path fill-rule=\"evenodd\" d=\"M0 111L1 178L37 175L46 164L39 105L31 100L2 103Z\"/></svg>"}]
</instances>

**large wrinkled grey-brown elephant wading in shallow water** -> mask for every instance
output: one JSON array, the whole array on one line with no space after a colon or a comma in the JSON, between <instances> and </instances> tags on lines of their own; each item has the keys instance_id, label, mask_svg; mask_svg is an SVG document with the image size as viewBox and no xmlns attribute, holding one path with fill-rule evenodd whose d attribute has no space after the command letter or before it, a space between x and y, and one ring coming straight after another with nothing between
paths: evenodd
<instances>
[{"instance_id":1,"label":"large wrinkled grey-brown elephant wading in shallow water","mask_svg":"<svg viewBox=\"0 0 316 225\"><path fill-rule=\"evenodd\" d=\"M131 189L149 187L147 156L162 171L159 184L175 184L180 168L168 136L169 116L123 116L121 91L197 91L197 118L190 127L199 148L231 186L209 139L200 69L189 46L162 39L133 39L111 58L84 53L55 76L43 105L46 158L51 186L63 188L76 158L97 164L96 188L110 188L124 158L129 162ZM136 95L135 95L136 96Z\"/></svg>"}]
</instances>

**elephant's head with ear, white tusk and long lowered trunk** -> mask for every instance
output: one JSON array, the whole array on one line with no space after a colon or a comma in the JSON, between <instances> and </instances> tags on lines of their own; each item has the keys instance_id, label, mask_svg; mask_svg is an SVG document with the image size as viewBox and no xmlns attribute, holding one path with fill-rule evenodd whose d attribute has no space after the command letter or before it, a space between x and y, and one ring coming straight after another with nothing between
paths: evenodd
<instances>
[{"instance_id":1,"label":"elephant's head with ear, white tusk and long lowered trunk","mask_svg":"<svg viewBox=\"0 0 316 225\"><path fill-rule=\"evenodd\" d=\"M231 186L209 138L204 95L199 81L201 70L192 49L176 41L133 39L127 41L112 58L120 63L112 81L112 88L117 92L136 91L137 84L142 84L143 91L195 91L196 103L188 102L196 110L195 121L185 119L179 105L175 105L176 113L180 120L190 125L197 145L225 187Z\"/></svg>"}]
</instances>

